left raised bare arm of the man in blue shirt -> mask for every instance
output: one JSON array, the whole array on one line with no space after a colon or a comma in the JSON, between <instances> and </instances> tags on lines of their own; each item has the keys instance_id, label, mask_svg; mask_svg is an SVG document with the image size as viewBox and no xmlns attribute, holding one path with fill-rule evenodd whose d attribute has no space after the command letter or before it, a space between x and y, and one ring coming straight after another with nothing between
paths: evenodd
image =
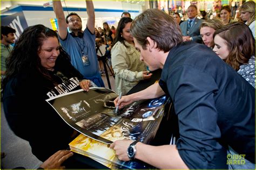
<instances>
[{"instance_id":1,"label":"left raised bare arm of the man in blue shirt","mask_svg":"<svg viewBox=\"0 0 256 170\"><path fill-rule=\"evenodd\" d=\"M53 4L53 11L55 12L55 16L58 22L58 34L59 34L59 37L64 40L68 35L68 30L67 30L64 11L62 8L62 3L59 0L57 1L53 0L52 4Z\"/></svg>"}]
</instances>

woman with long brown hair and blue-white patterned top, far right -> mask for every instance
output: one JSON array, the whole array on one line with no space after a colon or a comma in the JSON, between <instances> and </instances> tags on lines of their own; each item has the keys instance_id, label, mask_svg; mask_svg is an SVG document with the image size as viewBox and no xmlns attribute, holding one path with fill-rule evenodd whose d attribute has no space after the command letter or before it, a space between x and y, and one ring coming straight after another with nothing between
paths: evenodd
<instances>
[{"instance_id":1,"label":"woman with long brown hair and blue-white patterned top, far right","mask_svg":"<svg viewBox=\"0 0 256 170\"><path fill-rule=\"evenodd\" d=\"M214 33L213 51L255 88L255 41L250 28L236 22Z\"/></svg>"}]
</instances>

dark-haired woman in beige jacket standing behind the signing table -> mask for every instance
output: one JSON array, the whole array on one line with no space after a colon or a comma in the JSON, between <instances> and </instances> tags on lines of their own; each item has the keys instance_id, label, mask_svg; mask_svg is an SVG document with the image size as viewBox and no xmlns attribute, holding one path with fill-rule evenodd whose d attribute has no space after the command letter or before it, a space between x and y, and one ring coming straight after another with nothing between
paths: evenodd
<instances>
[{"instance_id":1,"label":"dark-haired woman in beige jacket standing behind the signing table","mask_svg":"<svg viewBox=\"0 0 256 170\"><path fill-rule=\"evenodd\" d=\"M120 19L116 36L111 49L111 61L116 75L116 92L126 94L140 80L150 79L151 73L146 70L146 65L140 61L140 53L134 46L130 34L131 18Z\"/></svg>"}]
</instances>

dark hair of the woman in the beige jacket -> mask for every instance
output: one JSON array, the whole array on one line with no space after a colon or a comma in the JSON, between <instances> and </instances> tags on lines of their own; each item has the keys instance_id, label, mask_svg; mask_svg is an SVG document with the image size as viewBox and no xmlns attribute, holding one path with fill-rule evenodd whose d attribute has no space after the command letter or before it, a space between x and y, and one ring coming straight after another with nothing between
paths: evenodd
<instances>
[{"instance_id":1,"label":"dark hair of the woman in the beige jacket","mask_svg":"<svg viewBox=\"0 0 256 170\"><path fill-rule=\"evenodd\" d=\"M119 23L118 23L118 26L117 26L117 31L116 31L116 34L114 36L114 40L113 40L113 45L112 47L118 42L122 42L124 44L124 46L127 48L127 46L125 45L124 41L125 39L122 37L121 33L123 33L123 29L125 27L125 25L127 23L131 23L132 22L132 18L128 18L128 17L124 17L124 18L121 18L119 20Z\"/></svg>"}]
</instances>

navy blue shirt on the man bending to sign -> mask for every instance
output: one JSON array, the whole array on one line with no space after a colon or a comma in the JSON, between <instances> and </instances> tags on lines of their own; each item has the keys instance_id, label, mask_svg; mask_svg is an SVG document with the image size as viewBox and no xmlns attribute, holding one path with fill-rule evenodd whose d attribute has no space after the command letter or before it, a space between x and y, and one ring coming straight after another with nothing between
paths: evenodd
<instances>
[{"instance_id":1,"label":"navy blue shirt on the man bending to sign","mask_svg":"<svg viewBox=\"0 0 256 170\"><path fill-rule=\"evenodd\" d=\"M254 88L210 48L172 48L159 85L173 100L177 148L189 168L228 168L228 145L255 163Z\"/></svg>"}]
</instances>

